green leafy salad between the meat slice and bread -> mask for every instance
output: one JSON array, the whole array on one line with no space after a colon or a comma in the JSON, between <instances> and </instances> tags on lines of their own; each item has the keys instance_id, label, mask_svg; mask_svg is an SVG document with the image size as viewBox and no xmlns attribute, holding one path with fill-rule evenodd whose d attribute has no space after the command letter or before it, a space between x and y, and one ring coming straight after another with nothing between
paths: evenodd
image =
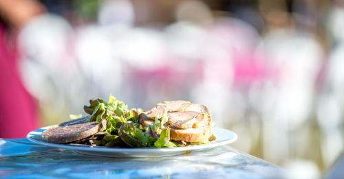
<instances>
[{"instance_id":1,"label":"green leafy salad between the meat slice and bread","mask_svg":"<svg viewBox=\"0 0 344 179\"><path fill-rule=\"evenodd\" d=\"M100 131L77 143L88 143L96 146L107 147L175 147L176 143L170 140L170 128L166 126L167 111L161 116L155 116L155 121L145 128L140 124L144 117L141 109L129 109L128 106L110 95L108 102L103 99L89 101L89 106L84 106L89 116L86 121L98 121ZM72 119L80 118L71 115Z\"/></svg>"}]
</instances>

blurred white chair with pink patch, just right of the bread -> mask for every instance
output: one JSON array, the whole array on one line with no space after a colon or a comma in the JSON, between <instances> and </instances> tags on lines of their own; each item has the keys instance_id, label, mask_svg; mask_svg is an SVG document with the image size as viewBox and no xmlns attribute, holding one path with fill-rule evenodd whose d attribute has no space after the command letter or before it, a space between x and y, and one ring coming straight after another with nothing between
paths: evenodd
<instances>
[{"instance_id":1,"label":"blurred white chair with pink patch, just right of the bread","mask_svg":"<svg viewBox=\"0 0 344 179\"><path fill-rule=\"evenodd\" d=\"M204 29L202 81L194 86L192 98L208 104L215 126L237 132L241 140L234 145L249 152L261 130L248 99L252 82L259 80L256 74L261 73L255 69L259 66L255 57L259 34L244 21L224 17Z\"/></svg>"}]
</instances>

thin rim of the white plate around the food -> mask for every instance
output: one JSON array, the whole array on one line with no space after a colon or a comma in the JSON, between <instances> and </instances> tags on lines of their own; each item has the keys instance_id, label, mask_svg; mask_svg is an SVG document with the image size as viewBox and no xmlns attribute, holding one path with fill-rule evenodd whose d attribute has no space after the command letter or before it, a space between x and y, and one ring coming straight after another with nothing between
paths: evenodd
<instances>
[{"instance_id":1,"label":"thin rim of the white plate around the food","mask_svg":"<svg viewBox=\"0 0 344 179\"><path fill-rule=\"evenodd\" d=\"M54 125L56 126L56 125ZM85 151L85 152L184 152L184 151L191 151L191 150L206 150L206 149L211 149L213 147L219 147L222 145L227 145L229 143L233 143L237 141L237 134L231 130L227 130L224 128L216 128L214 127L213 130L223 130L226 132L230 132L233 135L233 138L228 139L226 141L221 141L221 142L216 142L214 141L213 143L208 143L204 145L191 145L191 146L186 146L186 147L162 147L162 148L157 148L157 147L138 147L138 148L125 148L125 147L104 147L104 146L92 146L92 145L65 145L65 144L58 144L58 143L47 143L42 140L36 140L30 137L32 132L37 132L37 130L46 130L48 128L52 128L54 126L46 126L43 128L38 128L36 130L32 130L26 135L26 139L29 141L39 144L39 145L44 145L48 147L54 147L54 148L62 148L62 149L67 149L67 150L77 150L77 151ZM42 131L43 132L43 131ZM42 133L39 132L39 133Z\"/></svg>"}]
</instances>

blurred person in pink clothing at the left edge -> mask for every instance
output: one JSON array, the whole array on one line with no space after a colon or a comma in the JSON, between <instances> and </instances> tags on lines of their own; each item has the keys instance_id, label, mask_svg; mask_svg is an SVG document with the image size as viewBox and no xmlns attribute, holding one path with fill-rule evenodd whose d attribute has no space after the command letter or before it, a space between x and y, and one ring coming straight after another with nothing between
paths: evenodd
<instances>
[{"instance_id":1,"label":"blurred person in pink clothing at the left edge","mask_svg":"<svg viewBox=\"0 0 344 179\"><path fill-rule=\"evenodd\" d=\"M21 82L16 38L41 12L37 1L0 1L0 138L23 138L37 128L35 100Z\"/></svg>"}]
</instances>

